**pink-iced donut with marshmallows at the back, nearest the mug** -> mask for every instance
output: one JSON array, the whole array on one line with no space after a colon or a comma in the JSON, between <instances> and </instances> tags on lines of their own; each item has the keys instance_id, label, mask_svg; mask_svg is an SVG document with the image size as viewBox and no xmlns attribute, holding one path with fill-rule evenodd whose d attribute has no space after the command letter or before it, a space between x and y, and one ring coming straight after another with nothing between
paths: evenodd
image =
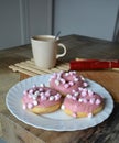
<instances>
[{"instance_id":1,"label":"pink-iced donut with marshmallows at the back, nearest the mug","mask_svg":"<svg viewBox=\"0 0 119 143\"><path fill-rule=\"evenodd\" d=\"M82 75L76 72L54 73L50 78L50 87L62 95L73 94L79 87L87 87L88 84Z\"/></svg>"}]
</instances>

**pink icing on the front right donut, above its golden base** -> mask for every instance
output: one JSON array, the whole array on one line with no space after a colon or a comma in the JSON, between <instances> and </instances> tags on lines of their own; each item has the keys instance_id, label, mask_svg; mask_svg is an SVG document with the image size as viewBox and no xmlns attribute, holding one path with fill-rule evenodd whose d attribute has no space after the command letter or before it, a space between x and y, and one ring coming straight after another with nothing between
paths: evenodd
<instances>
[{"instance_id":1,"label":"pink icing on the front right donut, above its golden base","mask_svg":"<svg viewBox=\"0 0 119 143\"><path fill-rule=\"evenodd\" d=\"M86 92L84 96L83 92ZM91 92L91 96L90 96ZM88 89L83 89L78 92L78 96L67 95L64 99L64 109L68 109L76 114L77 112L85 112L88 117L95 109L97 109L104 102L104 98L96 92L89 91Z\"/></svg>"}]
</instances>

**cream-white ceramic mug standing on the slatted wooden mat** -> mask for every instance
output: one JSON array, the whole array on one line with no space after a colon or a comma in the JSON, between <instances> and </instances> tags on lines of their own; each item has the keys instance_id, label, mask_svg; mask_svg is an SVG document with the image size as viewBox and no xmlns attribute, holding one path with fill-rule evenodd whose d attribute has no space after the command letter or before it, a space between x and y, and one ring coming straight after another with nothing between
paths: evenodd
<instances>
[{"instance_id":1,"label":"cream-white ceramic mug standing on the slatted wooden mat","mask_svg":"<svg viewBox=\"0 0 119 143\"><path fill-rule=\"evenodd\" d=\"M36 35L31 38L32 52L35 65L41 68L52 68L56 64L56 59L65 56L66 46L58 43L55 36ZM57 54L57 47L63 48L62 54Z\"/></svg>"}]
</instances>

